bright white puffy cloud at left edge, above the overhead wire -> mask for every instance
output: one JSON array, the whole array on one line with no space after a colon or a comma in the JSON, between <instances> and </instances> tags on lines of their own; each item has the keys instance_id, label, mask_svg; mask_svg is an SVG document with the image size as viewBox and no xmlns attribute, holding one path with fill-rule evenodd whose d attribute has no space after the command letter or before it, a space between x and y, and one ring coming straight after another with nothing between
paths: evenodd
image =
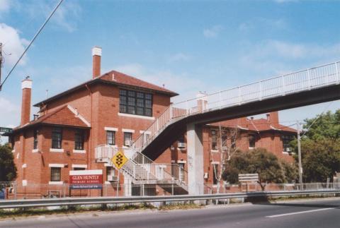
<instances>
[{"instance_id":1,"label":"bright white puffy cloud at left edge, above the overhead wire","mask_svg":"<svg viewBox=\"0 0 340 228\"><path fill-rule=\"evenodd\" d=\"M23 53L27 40L20 37L20 32L11 26L0 23L0 42L4 45L4 65L12 66ZM23 56L20 64L26 64L27 57Z\"/></svg>"}]
</instances>

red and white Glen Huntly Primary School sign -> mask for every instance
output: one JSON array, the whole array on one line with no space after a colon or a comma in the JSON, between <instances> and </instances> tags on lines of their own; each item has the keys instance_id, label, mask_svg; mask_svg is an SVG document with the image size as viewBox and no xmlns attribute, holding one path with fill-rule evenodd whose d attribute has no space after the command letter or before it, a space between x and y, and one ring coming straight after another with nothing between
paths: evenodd
<instances>
[{"instance_id":1,"label":"red and white Glen Huntly Primary School sign","mask_svg":"<svg viewBox=\"0 0 340 228\"><path fill-rule=\"evenodd\" d=\"M103 184L103 170L70 170L69 184Z\"/></svg>"}]
</instances>

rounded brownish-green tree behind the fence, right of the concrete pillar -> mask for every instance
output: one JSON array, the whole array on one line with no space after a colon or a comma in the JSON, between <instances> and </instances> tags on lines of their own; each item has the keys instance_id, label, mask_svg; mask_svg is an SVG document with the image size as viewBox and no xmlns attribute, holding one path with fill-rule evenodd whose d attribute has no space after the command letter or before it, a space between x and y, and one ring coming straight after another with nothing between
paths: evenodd
<instances>
[{"instance_id":1,"label":"rounded brownish-green tree behind the fence, right of the concrete pillar","mask_svg":"<svg viewBox=\"0 0 340 228\"><path fill-rule=\"evenodd\" d=\"M222 178L229 183L238 182L238 174L259 174L259 184L283 183L296 178L295 170L287 163L282 163L276 155L263 148L246 152L238 151L228 162Z\"/></svg>"}]
</instances>

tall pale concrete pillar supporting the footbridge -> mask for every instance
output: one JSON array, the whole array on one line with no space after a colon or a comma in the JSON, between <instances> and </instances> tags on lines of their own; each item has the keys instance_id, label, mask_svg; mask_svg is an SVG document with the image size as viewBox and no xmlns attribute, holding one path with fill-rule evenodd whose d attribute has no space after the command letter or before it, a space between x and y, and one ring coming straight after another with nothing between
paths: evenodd
<instances>
[{"instance_id":1,"label":"tall pale concrete pillar supporting the footbridge","mask_svg":"<svg viewBox=\"0 0 340 228\"><path fill-rule=\"evenodd\" d=\"M190 195L204 193L203 128L195 124L186 126L188 152L188 192Z\"/></svg>"}]
</instances>

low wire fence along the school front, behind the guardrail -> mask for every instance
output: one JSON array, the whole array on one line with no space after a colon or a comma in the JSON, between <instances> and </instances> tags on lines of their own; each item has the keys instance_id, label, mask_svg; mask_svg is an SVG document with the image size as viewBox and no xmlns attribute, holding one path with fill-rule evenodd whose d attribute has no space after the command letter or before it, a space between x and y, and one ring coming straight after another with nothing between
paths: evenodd
<instances>
[{"instance_id":1,"label":"low wire fence along the school front, behind the guardrail","mask_svg":"<svg viewBox=\"0 0 340 228\"><path fill-rule=\"evenodd\" d=\"M16 182L0 182L0 200L39 199L39 198L89 198L121 196L171 196L187 194L183 187L174 184L101 184L99 189L72 189L69 184L28 184L22 186ZM217 188L215 185L204 186L204 194L249 193L261 191L322 191L340 190L340 183L304 183L304 184L237 184ZM118 191L117 191L118 190Z\"/></svg>"}]
</instances>

